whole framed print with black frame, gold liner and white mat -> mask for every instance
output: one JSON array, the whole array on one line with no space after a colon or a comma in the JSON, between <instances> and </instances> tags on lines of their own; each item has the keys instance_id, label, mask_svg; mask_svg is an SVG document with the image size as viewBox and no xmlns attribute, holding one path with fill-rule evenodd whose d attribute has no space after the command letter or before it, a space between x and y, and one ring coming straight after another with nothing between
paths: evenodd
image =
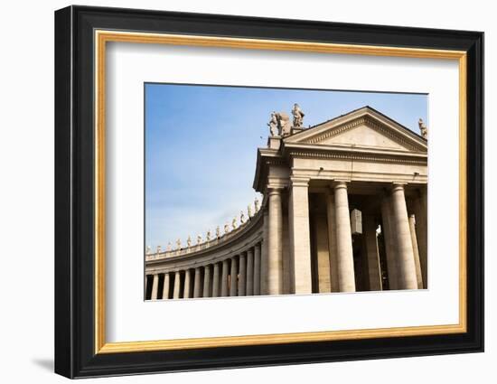
<instances>
[{"instance_id":1,"label":"whole framed print with black frame, gold liner and white mat","mask_svg":"<svg viewBox=\"0 0 497 384\"><path fill-rule=\"evenodd\" d=\"M483 33L55 13L55 371L483 351Z\"/></svg>"}]
</instances>

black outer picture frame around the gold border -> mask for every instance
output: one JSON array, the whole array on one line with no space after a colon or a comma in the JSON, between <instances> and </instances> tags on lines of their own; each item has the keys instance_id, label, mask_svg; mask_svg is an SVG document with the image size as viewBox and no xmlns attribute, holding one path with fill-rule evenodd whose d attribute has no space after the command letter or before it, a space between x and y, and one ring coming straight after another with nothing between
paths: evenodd
<instances>
[{"instance_id":1,"label":"black outer picture frame around the gold border","mask_svg":"<svg viewBox=\"0 0 497 384\"><path fill-rule=\"evenodd\" d=\"M94 31L467 52L467 332L95 353ZM483 351L483 33L69 6L55 12L55 372L68 378Z\"/></svg>"}]
</instances>

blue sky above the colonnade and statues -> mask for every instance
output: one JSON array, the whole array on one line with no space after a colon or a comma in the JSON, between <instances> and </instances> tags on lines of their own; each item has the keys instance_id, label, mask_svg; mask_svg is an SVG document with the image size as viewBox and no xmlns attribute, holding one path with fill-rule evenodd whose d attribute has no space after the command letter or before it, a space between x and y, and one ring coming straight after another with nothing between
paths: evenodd
<instances>
[{"instance_id":1,"label":"blue sky above the colonnade and statues","mask_svg":"<svg viewBox=\"0 0 497 384\"><path fill-rule=\"evenodd\" d=\"M305 126L366 105L416 133L419 117L427 122L427 95L147 83L145 244L205 238L246 211L270 114L291 116L295 102Z\"/></svg>"}]
</instances>

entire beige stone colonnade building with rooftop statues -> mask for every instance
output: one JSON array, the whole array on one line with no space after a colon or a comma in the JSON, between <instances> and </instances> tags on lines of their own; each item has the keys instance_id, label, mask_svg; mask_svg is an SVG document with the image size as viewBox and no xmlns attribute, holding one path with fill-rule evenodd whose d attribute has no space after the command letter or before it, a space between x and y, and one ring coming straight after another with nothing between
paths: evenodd
<instances>
[{"instance_id":1,"label":"entire beige stone colonnade building with rooftop statues","mask_svg":"<svg viewBox=\"0 0 497 384\"><path fill-rule=\"evenodd\" d=\"M304 128L299 112L293 125L273 114L258 148L260 208L214 239L148 252L146 299L427 287L427 127L364 107Z\"/></svg>"}]
</instances>

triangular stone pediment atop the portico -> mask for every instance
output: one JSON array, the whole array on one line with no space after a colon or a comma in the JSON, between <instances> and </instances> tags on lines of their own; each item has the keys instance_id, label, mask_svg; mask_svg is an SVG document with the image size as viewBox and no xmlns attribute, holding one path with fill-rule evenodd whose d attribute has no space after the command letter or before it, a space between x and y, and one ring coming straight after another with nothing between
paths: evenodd
<instances>
[{"instance_id":1,"label":"triangular stone pediment atop the portico","mask_svg":"<svg viewBox=\"0 0 497 384\"><path fill-rule=\"evenodd\" d=\"M364 107L285 138L288 144L427 152L427 141L377 110Z\"/></svg>"}]
</instances>

